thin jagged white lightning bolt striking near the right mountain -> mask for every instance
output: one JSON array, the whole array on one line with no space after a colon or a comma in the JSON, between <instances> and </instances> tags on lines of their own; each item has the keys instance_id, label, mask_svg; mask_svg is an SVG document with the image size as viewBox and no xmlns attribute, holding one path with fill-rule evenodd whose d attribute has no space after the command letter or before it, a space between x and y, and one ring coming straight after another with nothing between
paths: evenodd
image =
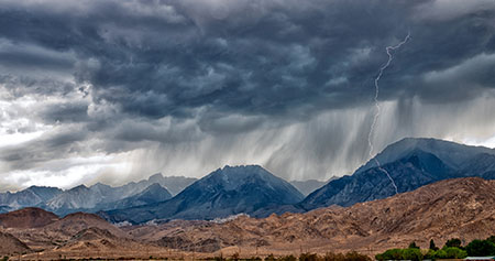
<instances>
[{"instance_id":1,"label":"thin jagged white lightning bolt striking near the right mountain","mask_svg":"<svg viewBox=\"0 0 495 261\"><path fill-rule=\"evenodd\" d=\"M382 76L383 76L383 72L391 65L392 61L394 59L394 54L391 53L391 52L392 52L392 51L395 51L395 50L397 50L397 48L400 48L400 46L403 46L404 44L406 44L407 41L409 41L409 39L410 39L410 32L407 33L406 37L405 37L400 43L398 43L398 44L396 44L396 45L387 46L387 47L385 48L386 52L387 52L387 55L388 55L388 59L387 59L387 62L386 62L384 65L382 65L382 67L381 67L380 70L378 70L378 75L377 75L376 78L375 78L375 97L374 97L374 101L375 101L375 116L373 117L373 122L372 122L372 126L371 126L371 129L370 129L370 133L367 134L367 144L369 144L369 146L370 146L370 153L369 153L369 154L370 154L370 157L373 156L373 149L374 149L374 148L373 148L373 142L372 142L372 135L373 135L373 133L374 133L374 131L375 131L375 126L376 126L376 122L378 121L380 111L381 111L381 109L382 109L382 108L380 107L380 101L378 101L378 96L380 96L380 85L378 85L378 81L380 81L380 79L381 79ZM392 178L391 174L389 174L385 168L382 167L382 165L381 165L378 159L376 159L376 156L373 157L373 160L375 161L376 165L378 166L378 170L380 170L381 172L385 173L385 174L387 175L388 180L391 180L392 185L393 185L394 188L395 188L395 194L398 194L398 188L397 188L397 185L396 185L395 182L394 182L394 178Z\"/></svg>"}]
</instances>

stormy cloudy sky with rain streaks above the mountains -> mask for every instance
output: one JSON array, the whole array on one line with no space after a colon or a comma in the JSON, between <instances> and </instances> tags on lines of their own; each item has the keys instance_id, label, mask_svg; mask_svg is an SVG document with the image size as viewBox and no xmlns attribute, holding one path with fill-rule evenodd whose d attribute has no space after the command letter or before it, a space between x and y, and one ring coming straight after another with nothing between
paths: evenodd
<instances>
[{"instance_id":1,"label":"stormy cloudy sky with rain streaks above the mountains","mask_svg":"<svg viewBox=\"0 0 495 261\"><path fill-rule=\"evenodd\" d=\"M2 0L0 191L495 148L495 0Z\"/></svg>"}]
</instances>

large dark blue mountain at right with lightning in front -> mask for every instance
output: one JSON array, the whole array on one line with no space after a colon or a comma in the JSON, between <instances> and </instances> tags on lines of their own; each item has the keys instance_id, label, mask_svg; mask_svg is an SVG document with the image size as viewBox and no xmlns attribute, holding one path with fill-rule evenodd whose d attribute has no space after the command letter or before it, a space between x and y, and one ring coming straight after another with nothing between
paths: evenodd
<instances>
[{"instance_id":1,"label":"large dark blue mountain at right with lightning in front","mask_svg":"<svg viewBox=\"0 0 495 261\"><path fill-rule=\"evenodd\" d=\"M495 178L495 150L436 139L404 139L376 155L399 193L453 177ZM340 205L351 206L393 196L395 189L374 160L351 176L331 181L297 206L304 210Z\"/></svg>"}]
</instances>

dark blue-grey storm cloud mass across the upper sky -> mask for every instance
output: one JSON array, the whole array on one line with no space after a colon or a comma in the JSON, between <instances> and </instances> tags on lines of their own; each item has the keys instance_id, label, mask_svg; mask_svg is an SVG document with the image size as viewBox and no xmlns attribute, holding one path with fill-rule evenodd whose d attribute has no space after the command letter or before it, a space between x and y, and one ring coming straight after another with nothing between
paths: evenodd
<instances>
[{"instance_id":1,"label":"dark blue-grey storm cloud mass across the upper sky","mask_svg":"<svg viewBox=\"0 0 495 261\"><path fill-rule=\"evenodd\" d=\"M428 1L61 4L54 10L4 4L3 39L91 58L95 66L79 66L75 75L92 84L95 98L150 118L193 117L190 109L201 106L248 115L301 109L306 115L362 104L386 58L382 50L408 31L413 40L386 72L384 97L406 91L443 102L444 97L421 91L424 75L490 53L494 42L493 10L453 21L421 20L415 11ZM359 57L363 50L369 53ZM0 57L26 69L70 67L64 59L20 51Z\"/></svg>"}]
</instances>

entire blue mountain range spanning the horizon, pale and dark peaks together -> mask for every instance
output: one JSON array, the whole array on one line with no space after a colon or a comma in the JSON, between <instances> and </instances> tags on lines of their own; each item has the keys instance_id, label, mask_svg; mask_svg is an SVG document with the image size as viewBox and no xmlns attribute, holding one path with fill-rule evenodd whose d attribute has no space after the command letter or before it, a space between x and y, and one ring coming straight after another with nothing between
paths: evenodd
<instances>
[{"instance_id":1,"label":"entire blue mountain range spanning the horizon, pale and dark peaks together","mask_svg":"<svg viewBox=\"0 0 495 261\"><path fill-rule=\"evenodd\" d=\"M380 165L378 165L380 163ZM121 187L96 184L68 191L30 187L0 194L4 211L38 206L57 215L98 213L113 222L132 224L170 219L216 219L246 214L305 213L316 208L386 198L455 177L495 178L495 150L454 142L407 138L397 141L352 175L290 183L258 165L224 166L200 180L161 174ZM305 194L317 188L305 197ZM176 195L178 188L183 191Z\"/></svg>"}]
</instances>

